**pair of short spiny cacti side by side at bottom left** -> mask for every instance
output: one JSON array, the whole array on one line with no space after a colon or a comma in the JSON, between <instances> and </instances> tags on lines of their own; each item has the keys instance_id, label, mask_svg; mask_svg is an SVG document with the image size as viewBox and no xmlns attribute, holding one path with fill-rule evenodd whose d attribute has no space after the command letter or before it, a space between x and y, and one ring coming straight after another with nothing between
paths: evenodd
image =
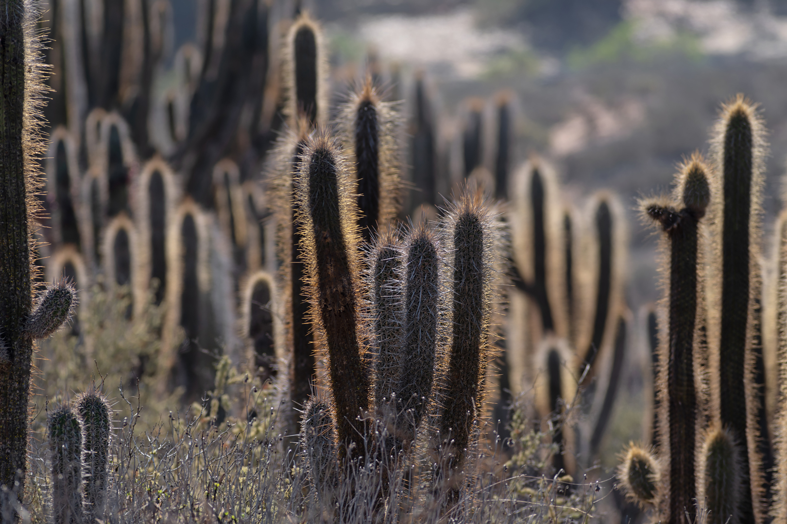
<instances>
[{"instance_id":1,"label":"pair of short spiny cacti side by side at bottom left","mask_svg":"<svg viewBox=\"0 0 787 524\"><path fill-rule=\"evenodd\" d=\"M46 427L52 452L55 524L105 519L112 434L109 402L97 390L89 390L72 405L54 409Z\"/></svg>"}]
</instances>

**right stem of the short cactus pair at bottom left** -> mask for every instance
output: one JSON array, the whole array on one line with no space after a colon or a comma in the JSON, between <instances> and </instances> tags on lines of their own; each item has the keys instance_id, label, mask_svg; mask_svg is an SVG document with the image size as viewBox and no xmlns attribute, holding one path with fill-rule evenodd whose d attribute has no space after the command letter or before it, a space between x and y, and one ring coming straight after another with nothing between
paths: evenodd
<instances>
[{"instance_id":1,"label":"right stem of the short cactus pair at bottom left","mask_svg":"<svg viewBox=\"0 0 787 524\"><path fill-rule=\"evenodd\" d=\"M104 395L94 388L80 394L74 406L83 424L85 516L87 522L93 522L94 519L104 519L112 408Z\"/></svg>"}]
</instances>

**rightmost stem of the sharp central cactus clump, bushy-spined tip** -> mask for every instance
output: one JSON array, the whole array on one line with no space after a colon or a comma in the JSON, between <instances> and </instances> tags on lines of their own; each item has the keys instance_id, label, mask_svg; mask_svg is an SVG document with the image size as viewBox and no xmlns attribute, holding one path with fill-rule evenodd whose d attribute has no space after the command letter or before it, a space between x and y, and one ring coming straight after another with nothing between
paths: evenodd
<instances>
[{"instance_id":1,"label":"rightmost stem of the sharp central cactus clump, bushy-spined tip","mask_svg":"<svg viewBox=\"0 0 787 524\"><path fill-rule=\"evenodd\" d=\"M452 259L451 342L440 390L438 473L444 504L456 502L468 447L482 412L493 300L492 214L478 194L464 193L443 223Z\"/></svg>"}]
</instances>

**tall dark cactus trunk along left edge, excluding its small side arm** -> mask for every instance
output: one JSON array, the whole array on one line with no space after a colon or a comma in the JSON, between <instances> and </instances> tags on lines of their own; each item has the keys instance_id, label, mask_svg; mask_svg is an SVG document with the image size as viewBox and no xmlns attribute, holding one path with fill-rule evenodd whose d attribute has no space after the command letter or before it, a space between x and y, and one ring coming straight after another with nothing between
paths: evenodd
<instances>
[{"instance_id":1,"label":"tall dark cactus trunk along left edge, excluding its small side arm","mask_svg":"<svg viewBox=\"0 0 787 524\"><path fill-rule=\"evenodd\" d=\"M35 158L42 86L35 5L8 0L0 10L0 333L8 348L8 360L0 363L0 486L20 500L27 471L33 350L27 335L31 222L40 186ZM4 510L8 508L0 508L0 515Z\"/></svg>"}]
</instances>

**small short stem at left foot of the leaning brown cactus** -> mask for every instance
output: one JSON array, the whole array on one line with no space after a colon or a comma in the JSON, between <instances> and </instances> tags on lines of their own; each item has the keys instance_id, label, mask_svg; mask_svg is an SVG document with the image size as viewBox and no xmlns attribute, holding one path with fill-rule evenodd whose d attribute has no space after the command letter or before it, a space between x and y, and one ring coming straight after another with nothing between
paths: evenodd
<instances>
[{"instance_id":1,"label":"small short stem at left foot of the leaning brown cactus","mask_svg":"<svg viewBox=\"0 0 787 524\"><path fill-rule=\"evenodd\" d=\"M338 485L337 453L334 441L331 402L312 396L306 402L301 423L301 445L305 453L309 482L323 507L330 507Z\"/></svg>"}]
</instances>

